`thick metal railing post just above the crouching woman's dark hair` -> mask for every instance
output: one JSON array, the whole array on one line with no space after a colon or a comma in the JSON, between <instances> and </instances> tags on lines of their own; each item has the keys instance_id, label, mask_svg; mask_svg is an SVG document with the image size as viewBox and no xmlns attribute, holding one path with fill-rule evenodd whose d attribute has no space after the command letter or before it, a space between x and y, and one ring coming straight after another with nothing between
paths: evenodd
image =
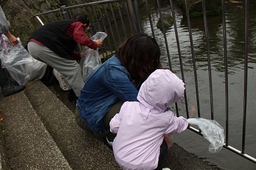
<instances>
[{"instance_id":1,"label":"thick metal railing post just above the crouching woman's dark hair","mask_svg":"<svg viewBox=\"0 0 256 170\"><path fill-rule=\"evenodd\" d=\"M130 17L130 21L132 22L133 33L143 32L142 24L140 22L140 15L138 8L136 6L137 0L128 0L128 15Z\"/></svg>"}]
</instances>

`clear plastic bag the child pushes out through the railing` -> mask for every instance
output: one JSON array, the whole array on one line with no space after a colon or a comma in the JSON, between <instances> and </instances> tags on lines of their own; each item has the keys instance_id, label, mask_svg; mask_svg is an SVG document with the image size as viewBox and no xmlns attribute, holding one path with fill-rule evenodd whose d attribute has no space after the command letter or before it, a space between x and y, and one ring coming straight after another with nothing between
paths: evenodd
<instances>
[{"instance_id":1,"label":"clear plastic bag the child pushes out through the railing","mask_svg":"<svg viewBox=\"0 0 256 170\"><path fill-rule=\"evenodd\" d=\"M189 124L198 125L203 137L210 141L210 153L217 153L224 145L224 130L215 120L207 120L204 118L189 118Z\"/></svg>"}]
</instances>

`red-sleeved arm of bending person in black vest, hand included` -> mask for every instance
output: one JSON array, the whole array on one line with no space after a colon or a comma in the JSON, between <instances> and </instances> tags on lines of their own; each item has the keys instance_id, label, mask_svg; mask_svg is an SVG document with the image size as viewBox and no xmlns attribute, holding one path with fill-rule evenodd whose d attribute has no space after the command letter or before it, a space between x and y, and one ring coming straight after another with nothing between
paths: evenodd
<instances>
[{"instance_id":1,"label":"red-sleeved arm of bending person in black vest, hand included","mask_svg":"<svg viewBox=\"0 0 256 170\"><path fill-rule=\"evenodd\" d=\"M102 46L102 41L93 41L86 36L85 31L86 26L84 24L82 24L81 22L74 22L74 41L80 43L81 45L86 45L88 48L92 48L93 50L97 50L98 47Z\"/></svg>"}]
</instances>

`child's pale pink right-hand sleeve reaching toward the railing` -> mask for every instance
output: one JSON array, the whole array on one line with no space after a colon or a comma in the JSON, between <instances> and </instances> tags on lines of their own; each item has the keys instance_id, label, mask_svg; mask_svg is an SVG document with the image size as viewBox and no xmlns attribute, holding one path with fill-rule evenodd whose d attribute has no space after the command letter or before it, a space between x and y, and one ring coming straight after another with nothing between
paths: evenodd
<instances>
[{"instance_id":1,"label":"child's pale pink right-hand sleeve reaching toward the railing","mask_svg":"<svg viewBox=\"0 0 256 170\"><path fill-rule=\"evenodd\" d=\"M170 119L166 129L166 134L179 134L187 129L188 125L189 123L187 122L187 119L183 118L182 116L178 118L173 116L173 118Z\"/></svg>"}]
</instances>

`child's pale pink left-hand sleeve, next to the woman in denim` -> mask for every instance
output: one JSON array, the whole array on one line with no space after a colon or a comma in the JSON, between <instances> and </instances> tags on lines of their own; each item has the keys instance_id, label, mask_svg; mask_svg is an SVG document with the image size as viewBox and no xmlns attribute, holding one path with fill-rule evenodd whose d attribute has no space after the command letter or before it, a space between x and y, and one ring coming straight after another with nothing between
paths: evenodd
<instances>
[{"instance_id":1,"label":"child's pale pink left-hand sleeve, next to the woman in denim","mask_svg":"<svg viewBox=\"0 0 256 170\"><path fill-rule=\"evenodd\" d=\"M123 103L123 105L121 106L120 112L116 113L116 115L114 115L114 118L112 118L112 120L109 122L110 132L117 134L117 132L119 131L119 127L123 117L123 112L126 111L127 104L128 104L128 101Z\"/></svg>"}]
</instances>

